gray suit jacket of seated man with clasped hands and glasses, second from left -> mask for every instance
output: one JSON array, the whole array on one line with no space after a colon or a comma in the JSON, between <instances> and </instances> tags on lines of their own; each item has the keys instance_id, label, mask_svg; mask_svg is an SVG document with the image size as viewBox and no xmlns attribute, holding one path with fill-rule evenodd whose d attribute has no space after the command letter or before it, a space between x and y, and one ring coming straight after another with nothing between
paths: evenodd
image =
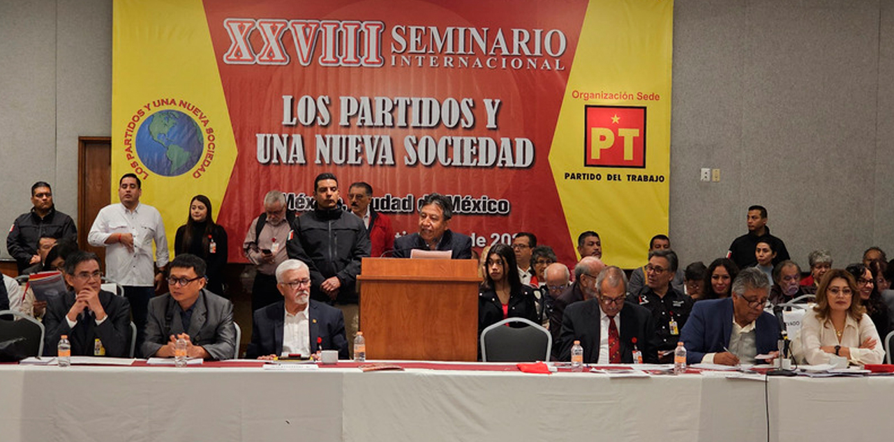
<instances>
[{"instance_id":1,"label":"gray suit jacket of seated man with clasped hands and glasses, second from left","mask_svg":"<svg viewBox=\"0 0 894 442\"><path fill-rule=\"evenodd\" d=\"M231 359L236 351L236 329L232 326L232 303L206 289L198 294L190 329L183 329L180 304L170 293L149 300L146 341L143 354L151 357L171 340L185 332L194 346L202 346L211 359Z\"/></svg>"}]
</instances>

